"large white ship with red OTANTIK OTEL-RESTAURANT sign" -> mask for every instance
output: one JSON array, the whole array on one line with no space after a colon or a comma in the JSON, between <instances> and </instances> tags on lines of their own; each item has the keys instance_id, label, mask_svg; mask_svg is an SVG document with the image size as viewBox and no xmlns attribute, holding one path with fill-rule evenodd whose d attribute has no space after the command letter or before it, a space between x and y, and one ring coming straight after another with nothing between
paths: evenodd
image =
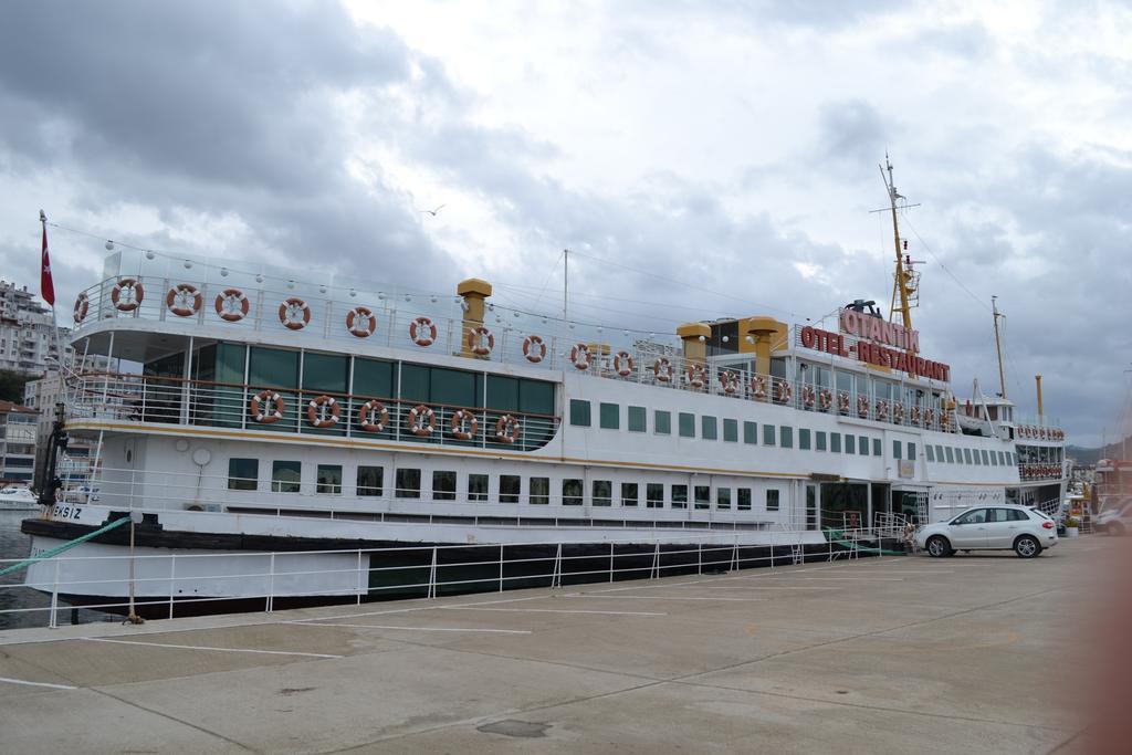
<instances>
[{"instance_id":1,"label":"large white ship with red OTANTIK OTEL-RESTAURANT sign","mask_svg":"<svg viewBox=\"0 0 1132 755\"><path fill-rule=\"evenodd\" d=\"M521 565L565 543L641 568L718 537L805 557L830 527L1064 492L1061 430L1005 400L968 410L921 355L899 234L898 321L854 302L826 328L754 316L671 340L507 310L481 280L453 297L321 275L112 254L72 344L118 367L77 364L66 406L70 435L101 440L100 495L25 521L33 551L140 513L139 598L261 595L271 559L273 595L361 599L404 576L391 564L429 566L413 546ZM128 530L27 583L123 597Z\"/></svg>"}]
</instances>

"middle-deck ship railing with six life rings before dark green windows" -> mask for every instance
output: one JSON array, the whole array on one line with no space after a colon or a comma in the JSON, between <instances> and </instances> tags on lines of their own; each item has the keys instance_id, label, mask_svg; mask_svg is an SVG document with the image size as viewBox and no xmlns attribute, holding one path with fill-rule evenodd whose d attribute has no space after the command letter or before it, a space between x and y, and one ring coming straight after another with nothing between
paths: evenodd
<instances>
[{"instance_id":1,"label":"middle-deck ship railing with six life rings before dark green windows","mask_svg":"<svg viewBox=\"0 0 1132 755\"><path fill-rule=\"evenodd\" d=\"M112 422L191 424L358 440L411 440L444 447L533 451L555 436L550 414L333 391L179 377L80 376L71 413Z\"/></svg>"}]
</instances>

